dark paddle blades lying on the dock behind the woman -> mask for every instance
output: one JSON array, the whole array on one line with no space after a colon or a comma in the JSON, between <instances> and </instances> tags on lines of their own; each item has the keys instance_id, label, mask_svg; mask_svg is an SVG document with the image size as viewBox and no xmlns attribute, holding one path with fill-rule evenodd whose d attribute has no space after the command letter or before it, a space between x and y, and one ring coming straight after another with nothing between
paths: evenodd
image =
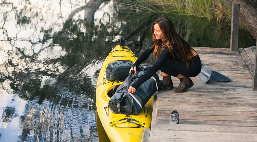
<instances>
[{"instance_id":1,"label":"dark paddle blades lying on the dock behind the woman","mask_svg":"<svg viewBox=\"0 0 257 142\"><path fill-rule=\"evenodd\" d=\"M218 82L225 82L231 80L227 76L213 71L210 67L206 67L202 65L201 72L199 73L199 77L201 80L206 83L209 79L212 79L214 81Z\"/></svg>"}]
</instances>

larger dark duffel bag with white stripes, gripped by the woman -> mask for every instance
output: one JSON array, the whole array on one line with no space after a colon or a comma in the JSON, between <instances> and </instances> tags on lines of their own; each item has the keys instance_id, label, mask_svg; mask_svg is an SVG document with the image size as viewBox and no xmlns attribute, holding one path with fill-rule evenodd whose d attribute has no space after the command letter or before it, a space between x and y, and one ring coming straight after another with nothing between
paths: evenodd
<instances>
[{"instance_id":1,"label":"larger dark duffel bag with white stripes, gripped by the woman","mask_svg":"<svg viewBox=\"0 0 257 142\"><path fill-rule=\"evenodd\" d=\"M117 88L116 93L113 94L109 100L109 108L112 113L117 114L138 114L144 105L149 101L153 94L161 86L162 81L155 73L153 77L146 80L135 93L128 93L128 87L139 79L147 70L142 68L141 71L133 72L126 78L126 80Z\"/></svg>"}]
</instances>

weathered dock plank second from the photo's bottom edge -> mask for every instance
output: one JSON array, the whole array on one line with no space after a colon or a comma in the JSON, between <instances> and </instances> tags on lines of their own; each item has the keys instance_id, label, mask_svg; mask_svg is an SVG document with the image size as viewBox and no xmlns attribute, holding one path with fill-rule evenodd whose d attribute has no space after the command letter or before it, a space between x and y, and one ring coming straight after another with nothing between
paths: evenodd
<instances>
[{"instance_id":1,"label":"weathered dock plank second from the photo's bottom edge","mask_svg":"<svg viewBox=\"0 0 257 142\"><path fill-rule=\"evenodd\" d=\"M256 134L257 127L242 126L213 126L213 125L185 125L185 124L153 124L152 130L164 131L194 131L194 132L226 132Z\"/></svg>"}]
</instances>

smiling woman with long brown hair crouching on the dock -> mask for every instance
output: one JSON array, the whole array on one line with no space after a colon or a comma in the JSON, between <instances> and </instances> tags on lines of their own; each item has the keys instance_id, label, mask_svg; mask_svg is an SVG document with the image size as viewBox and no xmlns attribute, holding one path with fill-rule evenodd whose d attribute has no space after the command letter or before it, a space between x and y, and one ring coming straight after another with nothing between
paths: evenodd
<instances>
[{"instance_id":1,"label":"smiling woman with long brown hair crouching on the dock","mask_svg":"<svg viewBox=\"0 0 257 142\"><path fill-rule=\"evenodd\" d=\"M175 30L173 23L168 18L159 18L154 21L152 28L153 41L149 47L139 56L130 69L135 70L153 52L154 65L134 84L128 88L128 92L134 93L146 80L151 78L159 69L163 80L158 90L173 89L171 75L180 80L178 87L173 92L185 92L194 83L189 77L197 76L201 71L201 61L197 52L183 40Z\"/></svg>"}]
</instances>

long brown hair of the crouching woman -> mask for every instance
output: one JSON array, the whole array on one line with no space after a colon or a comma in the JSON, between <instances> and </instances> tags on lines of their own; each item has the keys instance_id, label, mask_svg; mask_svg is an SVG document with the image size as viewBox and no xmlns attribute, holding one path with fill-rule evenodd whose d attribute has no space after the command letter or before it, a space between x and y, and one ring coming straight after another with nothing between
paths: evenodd
<instances>
[{"instance_id":1,"label":"long brown hair of the crouching woman","mask_svg":"<svg viewBox=\"0 0 257 142\"><path fill-rule=\"evenodd\" d=\"M159 39L159 40L155 39L154 24L158 24L162 33L164 34L163 41L161 39ZM178 35L178 33L176 32L175 27L170 19L162 17L162 18L155 20L153 22L151 31L152 31L154 45L149 48L155 47L154 52L153 52L153 56L155 59L159 58L162 49L165 46L167 46L169 48L170 55L174 58L174 60L176 57L178 57L187 66L190 65L188 59L189 59L189 57L194 56L191 51L191 49L193 49L193 48ZM176 47L176 48L174 48L174 47Z\"/></svg>"}]
</instances>

